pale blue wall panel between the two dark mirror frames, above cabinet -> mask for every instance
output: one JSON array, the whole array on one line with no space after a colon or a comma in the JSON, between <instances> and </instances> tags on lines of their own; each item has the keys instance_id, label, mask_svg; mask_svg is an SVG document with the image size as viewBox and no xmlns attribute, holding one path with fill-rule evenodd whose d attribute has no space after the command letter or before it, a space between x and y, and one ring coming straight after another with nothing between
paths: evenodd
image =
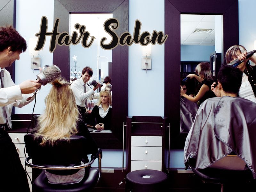
<instances>
[{"instance_id":1,"label":"pale blue wall panel between the two dark mirror frames, above cabinet","mask_svg":"<svg viewBox=\"0 0 256 192\"><path fill-rule=\"evenodd\" d=\"M164 0L129 0L129 32L141 21L140 34L164 31ZM164 116L164 44L151 46L152 70L141 69L142 46L129 46L128 115Z\"/></svg>"}]
</instances>

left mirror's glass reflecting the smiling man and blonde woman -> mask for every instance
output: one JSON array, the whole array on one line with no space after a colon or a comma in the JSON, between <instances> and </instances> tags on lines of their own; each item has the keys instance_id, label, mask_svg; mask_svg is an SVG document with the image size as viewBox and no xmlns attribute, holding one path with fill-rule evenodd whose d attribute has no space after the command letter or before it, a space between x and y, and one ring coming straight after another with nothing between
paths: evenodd
<instances>
[{"instance_id":1,"label":"left mirror's glass reflecting the smiling man and blonde woman","mask_svg":"<svg viewBox=\"0 0 256 192\"><path fill-rule=\"evenodd\" d=\"M76 80L80 79L81 84L84 84L85 87L81 97L77 96L77 98L82 98L86 92L94 91L90 97L86 96L81 103L79 101L76 103L78 109L81 107L81 114L85 114L84 122L91 132L112 132L112 80L109 76L112 50L104 50L100 47L102 37L107 37L108 41L111 39L103 28L104 22L109 18L112 18L112 13L70 14L70 34L77 30L75 25L78 23L85 26L85 30L90 33L90 38L94 36L89 49L84 48L82 44L70 45L70 82L74 84ZM90 38L88 38L88 43L91 41ZM85 67L89 67L89 70L83 71ZM77 98L76 100L80 100Z\"/></svg>"}]
</instances>

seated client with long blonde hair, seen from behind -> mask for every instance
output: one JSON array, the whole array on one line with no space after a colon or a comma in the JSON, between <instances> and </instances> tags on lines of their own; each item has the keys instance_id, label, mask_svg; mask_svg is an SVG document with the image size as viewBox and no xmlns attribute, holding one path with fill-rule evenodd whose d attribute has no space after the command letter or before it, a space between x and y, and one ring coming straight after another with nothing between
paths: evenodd
<instances>
[{"instance_id":1,"label":"seated client with long blonde hair, seen from behind","mask_svg":"<svg viewBox=\"0 0 256 192\"><path fill-rule=\"evenodd\" d=\"M41 145L52 145L59 140L68 139L71 135L81 135L87 140L88 152L96 154L98 147L92 139L90 132L84 124L77 106L70 84L64 79L56 79L52 83L52 88L45 98L46 108L39 116L35 130L35 139L42 138ZM88 162L87 155L84 156ZM86 163L85 162L85 163ZM75 173L57 175L54 171L44 170L49 183L71 184L78 183L84 178L85 169L77 169ZM58 170L57 170L58 171Z\"/></svg>"}]
</instances>

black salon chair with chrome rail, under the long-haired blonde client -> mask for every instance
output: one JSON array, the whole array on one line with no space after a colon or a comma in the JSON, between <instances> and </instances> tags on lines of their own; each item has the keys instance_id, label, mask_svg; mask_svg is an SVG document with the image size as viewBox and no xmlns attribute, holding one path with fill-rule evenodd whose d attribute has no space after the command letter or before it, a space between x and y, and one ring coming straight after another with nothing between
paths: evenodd
<instances>
[{"instance_id":1,"label":"black salon chair with chrome rail, under the long-haired blonde client","mask_svg":"<svg viewBox=\"0 0 256 192\"><path fill-rule=\"evenodd\" d=\"M99 149L97 154L92 154L89 161L87 155L91 153L87 151L90 146L87 145L86 147L86 139L83 136L71 136L69 141L61 140L54 147L51 145L39 145L41 139L39 141L34 140L34 134L26 134L24 140L26 152L28 153L25 164L29 167L46 169L57 175L73 174L77 169L85 168L83 180L75 184L51 184L48 182L45 172L42 171L33 182L33 192L90 191L98 183L101 176L102 151ZM97 157L99 159L99 167L97 169L91 168L91 164Z\"/></svg>"}]
</instances>

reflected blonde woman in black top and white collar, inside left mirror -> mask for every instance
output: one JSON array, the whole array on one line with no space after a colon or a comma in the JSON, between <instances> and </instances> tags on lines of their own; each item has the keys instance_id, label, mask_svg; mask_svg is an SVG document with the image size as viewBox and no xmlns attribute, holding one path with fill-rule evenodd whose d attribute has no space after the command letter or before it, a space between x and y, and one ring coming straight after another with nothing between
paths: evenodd
<instances>
[{"instance_id":1,"label":"reflected blonde woman in black top and white collar, inside left mirror","mask_svg":"<svg viewBox=\"0 0 256 192\"><path fill-rule=\"evenodd\" d=\"M98 131L111 130L112 99L108 90L100 92L100 100L89 116L89 124Z\"/></svg>"}]
</instances>

